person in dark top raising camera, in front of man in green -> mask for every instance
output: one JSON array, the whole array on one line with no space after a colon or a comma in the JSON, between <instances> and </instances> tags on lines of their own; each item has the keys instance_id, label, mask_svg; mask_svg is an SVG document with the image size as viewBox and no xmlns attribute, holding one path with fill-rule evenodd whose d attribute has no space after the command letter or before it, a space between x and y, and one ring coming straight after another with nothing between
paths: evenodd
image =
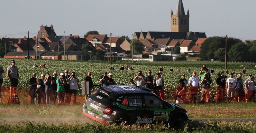
<instances>
[{"instance_id":1,"label":"person in dark top raising camera, in front of man in green","mask_svg":"<svg viewBox=\"0 0 256 133\"><path fill-rule=\"evenodd\" d=\"M203 80L201 80L202 84L202 90L201 90L201 102L203 103L203 98L206 95L206 101L205 103L209 103L210 99L210 84L211 84L211 79L208 78L208 75L205 74Z\"/></svg>"}]
</instances>

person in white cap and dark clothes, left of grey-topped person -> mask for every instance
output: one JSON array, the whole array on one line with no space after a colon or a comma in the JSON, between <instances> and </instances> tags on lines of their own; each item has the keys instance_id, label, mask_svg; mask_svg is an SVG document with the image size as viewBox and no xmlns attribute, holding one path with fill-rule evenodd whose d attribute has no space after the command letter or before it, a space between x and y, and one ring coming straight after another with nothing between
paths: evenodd
<instances>
[{"instance_id":1,"label":"person in white cap and dark clothes, left of grey-topped person","mask_svg":"<svg viewBox=\"0 0 256 133\"><path fill-rule=\"evenodd\" d=\"M40 87L37 90L37 104L41 104L41 99L43 99L43 104L46 104L46 96L45 96L45 84L44 84L44 74L41 74L41 78L39 79L40 81Z\"/></svg>"}]
</instances>

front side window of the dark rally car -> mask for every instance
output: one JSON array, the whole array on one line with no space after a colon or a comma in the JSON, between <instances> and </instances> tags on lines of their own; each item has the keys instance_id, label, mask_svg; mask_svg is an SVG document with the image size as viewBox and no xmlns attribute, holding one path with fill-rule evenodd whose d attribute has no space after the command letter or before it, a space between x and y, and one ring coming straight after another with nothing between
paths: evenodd
<instances>
[{"instance_id":1,"label":"front side window of the dark rally car","mask_svg":"<svg viewBox=\"0 0 256 133\"><path fill-rule=\"evenodd\" d=\"M144 96L146 107L163 108L163 102L155 96Z\"/></svg>"}]
</instances>

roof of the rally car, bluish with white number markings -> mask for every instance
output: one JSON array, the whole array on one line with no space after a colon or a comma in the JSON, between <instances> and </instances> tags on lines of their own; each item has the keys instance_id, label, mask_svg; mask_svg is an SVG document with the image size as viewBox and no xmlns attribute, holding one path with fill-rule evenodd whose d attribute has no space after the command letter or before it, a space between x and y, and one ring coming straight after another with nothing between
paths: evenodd
<instances>
[{"instance_id":1,"label":"roof of the rally car, bluish with white number markings","mask_svg":"<svg viewBox=\"0 0 256 133\"><path fill-rule=\"evenodd\" d=\"M152 94L151 90L143 86L134 86L134 85L109 85L102 86L105 91L112 92L114 94Z\"/></svg>"}]
</instances>

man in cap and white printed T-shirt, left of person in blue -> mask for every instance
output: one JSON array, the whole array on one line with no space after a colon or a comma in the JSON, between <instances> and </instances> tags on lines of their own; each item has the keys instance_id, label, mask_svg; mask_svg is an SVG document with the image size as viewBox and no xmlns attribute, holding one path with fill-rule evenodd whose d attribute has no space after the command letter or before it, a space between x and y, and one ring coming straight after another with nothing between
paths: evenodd
<instances>
[{"instance_id":1,"label":"man in cap and white printed T-shirt, left of person in blue","mask_svg":"<svg viewBox=\"0 0 256 133\"><path fill-rule=\"evenodd\" d=\"M235 88L236 88L235 83L236 83L236 79L233 78L233 73L230 73L229 78L227 79L227 82L226 82L227 102L229 102L230 97L231 97L231 101L234 100Z\"/></svg>"}]
</instances>

